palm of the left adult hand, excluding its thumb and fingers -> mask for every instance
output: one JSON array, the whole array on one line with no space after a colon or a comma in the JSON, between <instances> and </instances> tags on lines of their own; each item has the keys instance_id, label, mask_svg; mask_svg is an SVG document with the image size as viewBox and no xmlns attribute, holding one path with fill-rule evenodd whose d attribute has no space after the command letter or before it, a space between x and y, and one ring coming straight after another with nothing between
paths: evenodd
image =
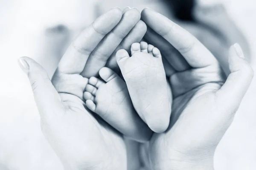
<instances>
[{"instance_id":1,"label":"palm of the left adult hand, excluding its thumb and fingers","mask_svg":"<svg viewBox=\"0 0 256 170\"><path fill-rule=\"evenodd\" d=\"M62 109L41 121L42 131L64 167L115 169L125 167L122 136L93 115L73 94L60 94ZM52 139L52 136L55 136ZM69 146L69 147L67 147Z\"/></svg>"}]
</instances>

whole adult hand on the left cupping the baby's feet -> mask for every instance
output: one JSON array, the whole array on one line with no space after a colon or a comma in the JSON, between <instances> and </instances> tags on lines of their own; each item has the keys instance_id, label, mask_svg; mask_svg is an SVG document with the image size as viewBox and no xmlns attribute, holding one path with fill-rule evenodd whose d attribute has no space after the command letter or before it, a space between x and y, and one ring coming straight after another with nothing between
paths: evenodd
<instances>
[{"instance_id":1,"label":"whole adult hand on the left cupping the baby's feet","mask_svg":"<svg viewBox=\"0 0 256 170\"><path fill-rule=\"evenodd\" d=\"M44 136L65 169L126 169L122 136L101 115L88 111L82 96L87 78L97 76L105 65L115 68L112 53L119 48L129 49L133 42L142 39L145 30L137 9L123 15L119 8L111 9L70 45L52 82L38 63L28 57L20 58L20 66L31 82Z\"/></svg>"}]
</instances>

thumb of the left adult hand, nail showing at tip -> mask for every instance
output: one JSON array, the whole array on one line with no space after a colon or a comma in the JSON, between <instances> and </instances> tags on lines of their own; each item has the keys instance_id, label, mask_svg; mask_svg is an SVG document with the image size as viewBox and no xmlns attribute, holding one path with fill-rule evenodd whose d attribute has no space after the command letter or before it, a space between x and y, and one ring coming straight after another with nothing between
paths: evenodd
<instances>
[{"instance_id":1,"label":"thumb of the left adult hand, nail showing at tip","mask_svg":"<svg viewBox=\"0 0 256 170\"><path fill-rule=\"evenodd\" d=\"M59 113L62 102L44 68L29 57L21 57L18 63L29 78L41 118Z\"/></svg>"}]
</instances>

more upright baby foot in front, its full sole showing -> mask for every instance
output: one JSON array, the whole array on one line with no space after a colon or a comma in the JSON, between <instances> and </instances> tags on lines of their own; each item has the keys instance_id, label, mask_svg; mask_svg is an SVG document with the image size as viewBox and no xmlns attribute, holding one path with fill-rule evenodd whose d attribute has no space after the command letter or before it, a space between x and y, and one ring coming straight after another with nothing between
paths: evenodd
<instances>
[{"instance_id":1,"label":"more upright baby foot in front, its full sole showing","mask_svg":"<svg viewBox=\"0 0 256 170\"><path fill-rule=\"evenodd\" d=\"M140 42L131 45L131 55L123 49L116 53L132 103L151 130L161 133L169 126L171 105L160 51Z\"/></svg>"}]
</instances>

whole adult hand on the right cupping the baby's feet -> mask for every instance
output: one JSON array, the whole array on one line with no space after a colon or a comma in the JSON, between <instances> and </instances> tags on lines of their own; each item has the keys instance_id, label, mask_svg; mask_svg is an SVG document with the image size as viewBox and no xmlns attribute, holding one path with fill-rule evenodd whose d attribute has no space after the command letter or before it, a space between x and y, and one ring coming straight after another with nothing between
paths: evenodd
<instances>
[{"instance_id":1,"label":"whole adult hand on the right cupping the baby's feet","mask_svg":"<svg viewBox=\"0 0 256 170\"><path fill-rule=\"evenodd\" d=\"M212 170L215 148L233 121L253 70L240 46L233 45L231 74L225 81L215 57L189 32L151 9L141 15L150 27L145 38L166 58L173 93L170 126L152 136L144 159L154 170Z\"/></svg>"}]
</instances>

